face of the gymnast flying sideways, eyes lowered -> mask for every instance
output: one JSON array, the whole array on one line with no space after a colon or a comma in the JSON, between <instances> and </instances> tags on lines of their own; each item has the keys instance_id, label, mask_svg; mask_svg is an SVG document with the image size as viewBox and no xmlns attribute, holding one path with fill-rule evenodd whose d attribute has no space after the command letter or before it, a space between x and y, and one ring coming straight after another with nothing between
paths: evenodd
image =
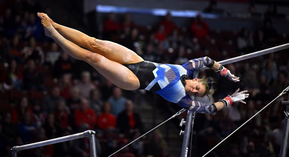
<instances>
[{"instance_id":1,"label":"face of the gymnast flying sideways, eyes lowered","mask_svg":"<svg viewBox=\"0 0 289 157\"><path fill-rule=\"evenodd\" d=\"M201 84L199 78L194 78L192 80L186 80L187 84L185 85L185 91L188 95L195 97L202 97L205 93L205 86Z\"/></svg>"}]
</instances>

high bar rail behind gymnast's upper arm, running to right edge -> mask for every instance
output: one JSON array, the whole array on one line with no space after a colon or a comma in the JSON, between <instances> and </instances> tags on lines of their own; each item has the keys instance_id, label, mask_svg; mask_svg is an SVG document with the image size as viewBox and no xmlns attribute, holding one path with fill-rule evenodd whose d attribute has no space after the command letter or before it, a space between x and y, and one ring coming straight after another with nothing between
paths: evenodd
<instances>
[{"instance_id":1,"label":"high bar rail behind gymnast's upper arm, running to right edge","mask_svg":"<svg viewBox=\"0 0 289 157\"><path fill-rule=\"evenodd\" d=\"M250 54L245 54L243 56L234 57L234 58L230 58L230 59L227 59L227 60L222 60L222 61L219 61L218 63L222 64L222 65L226 65L226 64L238 62L238 61L241 61L241 60L246 60L246 59L249 59L249 58L258 57L258 56L261 56L261 55L264 55L264 54L269 54L269 53L272 53L272 52L284 50L286 48L289 48L289 43L284 44L284 45L279 45L279 46L276 46L276 47L273 47L273 48L268 48L268 49L265 49L265 50L253 52L253 53L250 53ZM200 71L206 70L206 69L209 69L209 68L204 66L204 67L202 67L200 69Z\"/></svg>"}]
</instances>

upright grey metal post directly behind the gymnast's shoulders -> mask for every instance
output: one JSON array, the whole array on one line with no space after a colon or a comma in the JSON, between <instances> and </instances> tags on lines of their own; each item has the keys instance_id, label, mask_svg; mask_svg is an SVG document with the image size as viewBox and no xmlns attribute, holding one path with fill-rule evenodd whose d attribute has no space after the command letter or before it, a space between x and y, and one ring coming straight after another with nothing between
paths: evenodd
<instances>
[{"instance_id":1,"label":"upright grey metal post directly behind the gymnast's shoulders","mask_svg":"<svg viewBox=\"0 0 289 157\"><path fill-rule=\"evenodd\" d=\"M198 76L199 76L199 72L194 71L193 78L197 78ZM191 129L192 129L193 124L194 124L194 112L191 112L188 110L181 157L186 157L188 155L188 150L189 150L188 145L189 145L189 140L190 140L190 135L191 135L190 133L192 131Z\"/></svg>"}]
</instances>

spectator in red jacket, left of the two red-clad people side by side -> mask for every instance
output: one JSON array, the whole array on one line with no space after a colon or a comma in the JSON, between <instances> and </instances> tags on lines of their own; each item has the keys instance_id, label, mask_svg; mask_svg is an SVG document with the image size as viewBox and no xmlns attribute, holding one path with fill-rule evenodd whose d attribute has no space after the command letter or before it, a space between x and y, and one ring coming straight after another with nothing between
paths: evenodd
<instances>
[{"instance_id":1,"label":"spectator in red jacket, left of the two red-clad people side by side","mask_svg":"<svg viewBox=\"0 0 289 157\"><path fill-rule=\"evenodd\" d=\"M95 124L97 123L95 112L93 109L88 107L88 101L85 98L81 99L79 109L76 109L74 112L74 121L77 127L87 123L91 130L94 129Z\"/></svg>"}]
</instances>

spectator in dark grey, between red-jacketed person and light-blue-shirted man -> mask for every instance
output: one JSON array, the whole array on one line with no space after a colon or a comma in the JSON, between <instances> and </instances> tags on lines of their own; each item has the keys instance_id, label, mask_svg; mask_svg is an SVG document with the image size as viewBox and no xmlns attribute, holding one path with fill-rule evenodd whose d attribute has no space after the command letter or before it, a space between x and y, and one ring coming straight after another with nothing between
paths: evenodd
<instances>
[{"instance_id":1,"label":"spectator in dark grey, between red-jacketed person and light-blue-shirted man","mask_svg":"<svg viewBox=\"0 0 289 157\"><path fill-rule=\"evenodd\" d=\"M95 111L97 115L101 114L101 108L102 108L102 100L101 100L101 93L98 90L98 88L95 88L94 90L90 91L90 106Z\"/></svg>"}]
</instances>

